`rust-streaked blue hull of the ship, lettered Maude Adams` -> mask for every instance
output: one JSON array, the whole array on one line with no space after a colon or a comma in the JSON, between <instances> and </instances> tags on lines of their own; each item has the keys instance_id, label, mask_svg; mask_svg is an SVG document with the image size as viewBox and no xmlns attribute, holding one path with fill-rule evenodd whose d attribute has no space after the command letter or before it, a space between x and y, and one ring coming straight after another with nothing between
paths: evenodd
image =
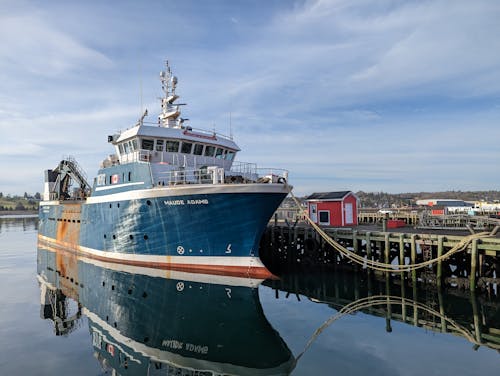
<instances>
[{"instance_id":1,"label":"rust-streaked blue hull of the ship, lettered Maude Adams","mask_svg":"<svg viewBox=\"0 0 500 376\"><path fill-rule=\"evenodd\" d=\"M260 237L288 189L152 188L42 202L39 239L106 261L264 278Z\"/></svg>"}]
</instances>

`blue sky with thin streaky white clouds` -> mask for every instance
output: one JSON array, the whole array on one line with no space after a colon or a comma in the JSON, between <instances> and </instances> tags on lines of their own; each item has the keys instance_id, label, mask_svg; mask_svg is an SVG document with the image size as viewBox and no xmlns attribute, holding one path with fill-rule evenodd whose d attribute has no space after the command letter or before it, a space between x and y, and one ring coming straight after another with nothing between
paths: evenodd
<instances>
[{"instance_id":1,"label":"blue sky with thin streaky white clouds","mask_svg":"<svg viewBox=\"0 0 500 376\"><path fill-rule=\"evenodd\" d=\"M183 117L297 195L500 190L500 2L0 1L0 191L43 191L75 157L159 113Z\"/></svg>"}]
</instances>

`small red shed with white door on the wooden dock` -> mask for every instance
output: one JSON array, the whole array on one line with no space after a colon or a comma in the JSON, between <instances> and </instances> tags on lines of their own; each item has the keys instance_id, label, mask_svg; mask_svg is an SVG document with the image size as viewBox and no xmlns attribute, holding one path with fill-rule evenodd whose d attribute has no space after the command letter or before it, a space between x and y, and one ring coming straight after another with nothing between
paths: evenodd
<instances>
[{"instance_id":1,"label":"small red shed with white door on the wooden dock","mask_svg":"<svg viewBox=\"0 0 500 376\"><path fill-rule=\"evenodd\" d=\"M358 198L351 191L313 193L306 198L309 217L321 226L358 224Z\"/></svg>"}]
</instances>

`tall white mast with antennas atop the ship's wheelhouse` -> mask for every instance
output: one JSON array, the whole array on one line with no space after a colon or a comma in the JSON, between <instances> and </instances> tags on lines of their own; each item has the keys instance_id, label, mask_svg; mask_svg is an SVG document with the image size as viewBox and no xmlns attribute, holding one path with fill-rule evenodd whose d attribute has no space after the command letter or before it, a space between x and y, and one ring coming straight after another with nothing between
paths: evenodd
<instances>
[{"instance_id":1,"label":"tall white mast with antennas atop the ship's wheelhouse","mask_svg":"<svg viewBox=\"0 0 500 376\"><path fill-rule=\"evenodd\" d=\"M175 94L177 77L172 74L168 60L165 62L165 70L160 72L161 89L163 97L161 100L161 114L158 116L158 124L165 128L180 128L179 118L181 111L179 105L174 102L179 98Z\"/></svg>"}]
</instances>

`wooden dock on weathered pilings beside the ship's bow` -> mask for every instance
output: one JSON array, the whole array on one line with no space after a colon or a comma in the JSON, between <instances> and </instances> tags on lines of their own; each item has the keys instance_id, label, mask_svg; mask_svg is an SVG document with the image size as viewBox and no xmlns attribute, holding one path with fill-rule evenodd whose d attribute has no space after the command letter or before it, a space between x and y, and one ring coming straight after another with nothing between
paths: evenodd
<instances>
[{"instance_id":1,"label":"wooden dock on weathered pilings beside the ship's bow","mask_svg":"<svg viewBox=\"0 0 500 376\"><path fill-rule=\"evenodd\" d=\"M392 264L395 269L397 265L417 264L442 256L464 238L460 235L359 229L327 228L325 231L348 250L367 259ZM269 226L262 237L260 256L271 270L304 266L364 269L333 250L309 226ZM499 256L499 238L476 239L465 252L457 253L430 267L390 274L410 285L428 283L438 287L472 291L479 289L498 294Z\"/></svg>"}]
</instances>

